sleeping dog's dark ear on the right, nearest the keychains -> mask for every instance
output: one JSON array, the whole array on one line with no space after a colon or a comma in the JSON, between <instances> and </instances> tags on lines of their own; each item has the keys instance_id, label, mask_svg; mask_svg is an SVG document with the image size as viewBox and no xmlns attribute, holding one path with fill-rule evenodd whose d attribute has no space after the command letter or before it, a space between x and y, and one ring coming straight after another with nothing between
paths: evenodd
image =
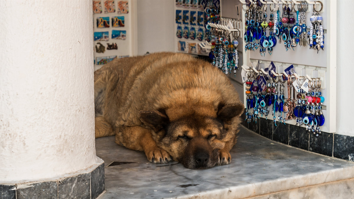
<instances>
[{"instance_id":1,"label":"sleeping dog's dark ear on the right, nearest the keychains","mask_svg":"<svg viewBox=\"0 0 354 199\"><path fill-rule=\"evenodd\" d=\"M244 109L242 103L220 105L217 118L224 123L228 123L232 118L240 116Z\"/></svg>"}]
</instances>

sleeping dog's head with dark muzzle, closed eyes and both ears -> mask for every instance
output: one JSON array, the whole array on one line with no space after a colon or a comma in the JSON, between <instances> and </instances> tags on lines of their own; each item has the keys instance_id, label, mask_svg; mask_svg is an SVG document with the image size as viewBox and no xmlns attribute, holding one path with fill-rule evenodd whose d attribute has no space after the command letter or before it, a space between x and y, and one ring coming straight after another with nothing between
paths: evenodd
<instances>
[{"instance_id":1,"label":"sleeping dog's head with dark muzzle, closed eyes and both ears","mask_svg":"<svg viewBox=\"0 0 354 199\"><path fill-rule=\"evenodd\" d=\"M215 115L191 112L173 120L161 109L141 111L140 119L153 130L156 144L173 160L189 169L207 169L219 162L219 149L235 139L239 125L236 116L243 109L243 104L235 103L220 107Z\"/></svg>"}]
</instances>

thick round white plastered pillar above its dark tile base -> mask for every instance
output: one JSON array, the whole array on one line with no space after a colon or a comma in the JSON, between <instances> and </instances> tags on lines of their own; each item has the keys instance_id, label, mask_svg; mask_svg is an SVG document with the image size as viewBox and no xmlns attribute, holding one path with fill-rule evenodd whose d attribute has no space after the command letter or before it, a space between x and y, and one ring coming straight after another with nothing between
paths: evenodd
<instances>
[{"instance_id":1,"label":"thick round white plastered pillar above its dark tile base","mask_svg":"<svg viewBox=\"0 0 354 199\"><path fill-rule=\"evenodd\" d=\"M97 164L92 1L0 1L0 183Z\"/></svg>"}]
</instances>

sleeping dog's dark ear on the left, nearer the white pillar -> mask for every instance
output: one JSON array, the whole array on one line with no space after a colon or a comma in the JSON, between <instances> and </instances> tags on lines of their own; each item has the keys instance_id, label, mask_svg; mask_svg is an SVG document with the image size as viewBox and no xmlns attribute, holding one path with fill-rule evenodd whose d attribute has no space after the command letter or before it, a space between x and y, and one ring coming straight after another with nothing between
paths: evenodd
<instances>
[{"instance_id":1,"label":"sleeping dog's dark ear on the left, nearer the white pillar","mask_svg":"<svg viewBox=\"0 0 354 199\"><path fill-rule=\"evenodd\" d=\"M169 117L164 111L148 110L140 111L139 119L144 125L150 127L152 130L158 132L169 124Z\"/></svg>"}]
</instances>

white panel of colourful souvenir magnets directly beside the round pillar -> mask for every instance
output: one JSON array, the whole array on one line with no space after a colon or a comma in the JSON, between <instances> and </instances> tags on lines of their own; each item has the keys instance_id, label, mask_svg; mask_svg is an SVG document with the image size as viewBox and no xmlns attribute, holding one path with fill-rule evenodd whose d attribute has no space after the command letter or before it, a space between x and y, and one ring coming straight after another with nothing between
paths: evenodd
<instances>
[{"instance_id":1,"label":"white panel of colourful souvenir magnets directly beside the round pillar","mask_svg":"<svg viewBox=\"0 0 354 199\"><path fill-rule=\"evenodd\" d=\"M129 2L119 0L92 1L95 65L106 64L116 57L132 55L131 47L127 47L131 40ZM125 47L120 48L119 46Z\"/></svg>"}]
</instances>

